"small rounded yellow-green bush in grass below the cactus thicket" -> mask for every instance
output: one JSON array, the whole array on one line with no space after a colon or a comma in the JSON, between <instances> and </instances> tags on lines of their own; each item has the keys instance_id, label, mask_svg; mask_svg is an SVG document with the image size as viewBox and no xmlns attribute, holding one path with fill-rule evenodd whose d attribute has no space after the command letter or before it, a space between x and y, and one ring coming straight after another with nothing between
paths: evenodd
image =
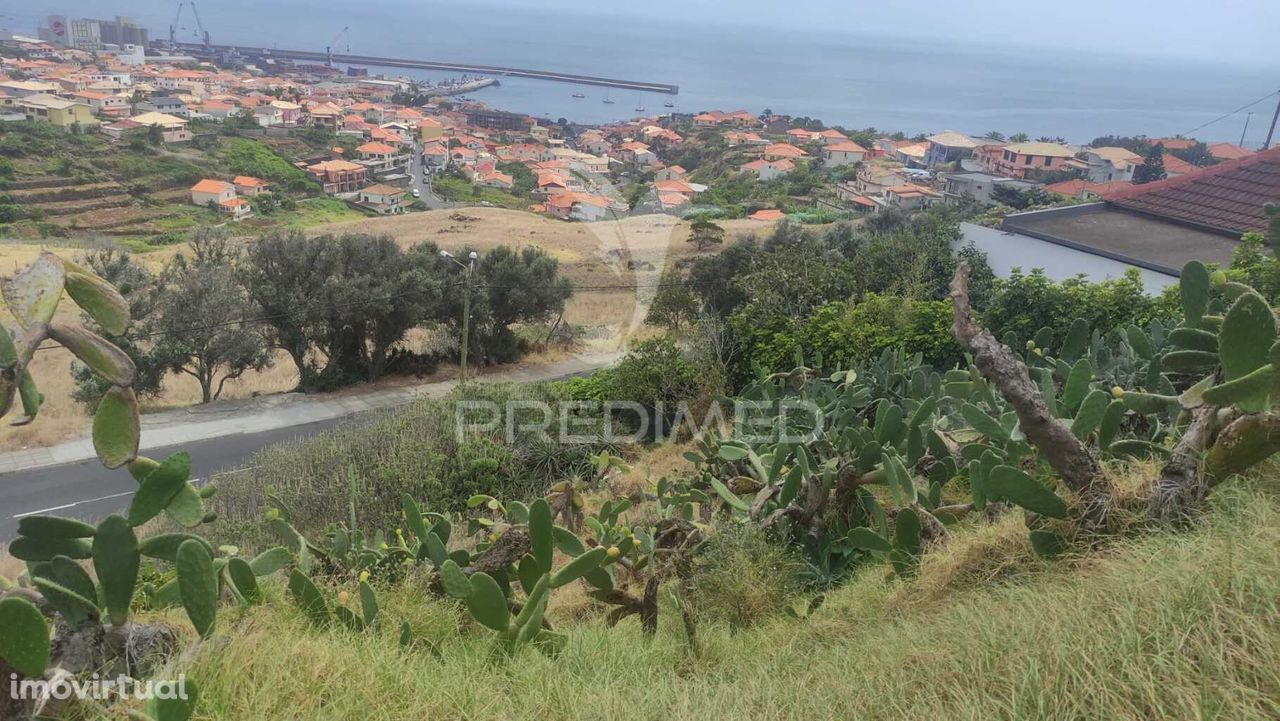
<instances>
[{"instance_id":1,"label":"small rounded yellow-green bush in grass below the cactus thicket","mask_svg":"<svg viewBox=\"0 0 1280 721\"><path fill-rule=\"evenodd\" d=\"M695 613L735 628L782 613L804 588L804 560L755 525L717 529L700 560L692 579Z\"/></svg>"}]
</instances>

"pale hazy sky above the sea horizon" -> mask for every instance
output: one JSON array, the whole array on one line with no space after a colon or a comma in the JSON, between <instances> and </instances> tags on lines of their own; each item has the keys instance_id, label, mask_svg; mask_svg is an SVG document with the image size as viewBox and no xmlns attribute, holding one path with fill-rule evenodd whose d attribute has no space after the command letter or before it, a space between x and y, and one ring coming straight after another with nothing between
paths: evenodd
<instances>
[{"instance_id":1,"label":"pale hazy sky above the sea horizon","mask_svg":"<svg viewBox=\"0 0 1280 721\"><path fill-rule=\"evenodd\" d=\"M337 0L237 0L210 1L205 10L257 1L292 5L300 10L333 5L357 12ZM358 12L392 10L399 5L439 4L424 0L361 0ZM458 3L451 3L458 6ZM756 26L769 32L799 32L822 28L849 35L913 40L964 38L974 42L1034 46L1042 50L1071 50L1098 54L1172 55L1183 59L1258 64L1280 70L1280 1L1277 0L479 0L483 20L486 8L529 12L536 6L575 14L609 14L660 23L724 23ZM5 0L0 3L0 27L28 26L47 13L109 15L131 14L163 27L172 18L173 0ZM212 22L210 23L212 24ZM225 26L225 19L221 23ZM1280 85L1280 77L1276 78Z\"/></svg>"}]
</instances>

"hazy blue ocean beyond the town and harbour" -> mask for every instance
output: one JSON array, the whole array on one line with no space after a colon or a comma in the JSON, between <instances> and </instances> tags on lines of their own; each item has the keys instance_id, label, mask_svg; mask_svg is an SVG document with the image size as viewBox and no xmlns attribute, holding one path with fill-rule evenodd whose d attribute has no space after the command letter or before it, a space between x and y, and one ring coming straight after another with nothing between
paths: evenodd
<instances>
[{"instance_id":1,"label":"hazy blue ocean beyond the town and harbour","mask_svg":"<svg viewBox=\"0 0 1280 721\"><path fill-rule=\"evenodd\" d=\"M58 10L79 17L128 13L164 37L175 3L131 0L113 9L104 0L63 0ZM36 4L38 5L38 3ZM1277 87L1275 67L1170 60L1044 49L983 46L963 41L896 40L829 29L768 32L678 18L611 18L603 10L520 10L385 0L326 4L315 0L201 3L216 44L323 50L343 27L335 51L524 67L636 81L675 83L678 96L524 78L477 100L539 118L604 123L636 115L746 109L808 115L850 128L909 134L955 129L1061 136L1088 142L1102 134L1172 136L1229 113ZM0 24L31 27L45 9L0 14ZM1034 12L1029 8L1029 12ZM193 41L189 9L179 40ZM815 23L820 26L822 23ZM420 79L445 73L379 69ZM573 99L575 92L586 97ZM1274 101L1252 110L1245 145L1266 134ZM1239 142L1244 114L1197 132L1207 141Z\"/></svg>"}]
</instances>

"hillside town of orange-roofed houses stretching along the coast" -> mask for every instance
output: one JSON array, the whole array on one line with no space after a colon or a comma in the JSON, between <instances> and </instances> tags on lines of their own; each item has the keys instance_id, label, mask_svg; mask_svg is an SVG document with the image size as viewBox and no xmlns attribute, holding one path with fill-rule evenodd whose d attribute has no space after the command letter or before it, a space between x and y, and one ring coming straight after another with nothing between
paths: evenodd
<instances>
[{"instance_id":1,"label":"hillside town of orange-roofed houses stretching along the coast","mask_svg":"<svg viewBox=\"0 0 1280 721\"><path fill-rule=\"evenodd\" d=\"M59 22L51 19L50 26ZM172 154L210 154L211 147L225 154L227 142L256 154L261 145L261 158L291 168L268 178L253 173L262 163L214 165L218 173L186 186L174 181L152 188L152 200L184 198L191 207L237 222L265 222L261 216L282 204L296 207L308 197L312 204L333 198L335 213L393 215L479 205L568 222L657 213L828 223L952 205L973 220L966 224L973 228L969 241L997 261L1010 254L987 247L992 239L982 231L1016 228L1162 274L1164 280L1156 280L1161 284L1178 264L1147 257L1160 255L1156 251L1139 246L1121 252L1111 247L1117 239L1082 239L1068 231L1065 238L1037 234L1024 216L1117 207L1123 198L1162 184L1208 179L1240 164L1275 164L1272 154L1190 137L1106 137L1083 145L952 129L908 137L769 110L668 111L584 126L499 110L468 96L424 93L416 81L370 76L362 68L339 72L289 60L253 65L156 54L124 42L146 40L127 18L65 22L74 32L61 44L45 31L41 37L0 38L0 120L47 123L97 134L115 147L150 145ZM58 201L84 193L83 186L52 187L40 172L33 175L10 178L18 183L9 186L18 188L9 201L10 220L24 215L24 202L35 204L26 215L58 216L67 211ZM123 188L91 195L99 206L138 204ZM49 197L54 202L38 200ZM120 233L164 227L164 220L146 215L131 224L143 210L120 213ZM1148 218L1152 214L1158 209L1147 210ZM1261 220L1193 224L1229 238L1258 229ZM1034 243L1021 247L1006 265L1025 264L1025 248Z\"/></svg>"}]
</instances>

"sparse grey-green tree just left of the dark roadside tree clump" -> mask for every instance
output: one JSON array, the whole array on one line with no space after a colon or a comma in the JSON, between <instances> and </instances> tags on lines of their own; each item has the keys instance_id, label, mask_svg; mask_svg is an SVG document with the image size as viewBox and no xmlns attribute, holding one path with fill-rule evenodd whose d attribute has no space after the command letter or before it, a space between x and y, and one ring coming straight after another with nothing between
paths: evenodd
<instances>
[{"instance_id":1,"label":"sparse grey-green tree just left of the dark roadside tree clump","mask_svg":"<svg viewBox=\"0 0 1280 721\"><path fill-rule=\"evenodd\" d=\"M156 359L200 383L201 402L221 396L228 380L271 365L259 329L242 323L252 310L237 282L239 252L223 228L198 228L192 256L178 254L160 275L154 324Z\"/></svg>"}]
</instances>

